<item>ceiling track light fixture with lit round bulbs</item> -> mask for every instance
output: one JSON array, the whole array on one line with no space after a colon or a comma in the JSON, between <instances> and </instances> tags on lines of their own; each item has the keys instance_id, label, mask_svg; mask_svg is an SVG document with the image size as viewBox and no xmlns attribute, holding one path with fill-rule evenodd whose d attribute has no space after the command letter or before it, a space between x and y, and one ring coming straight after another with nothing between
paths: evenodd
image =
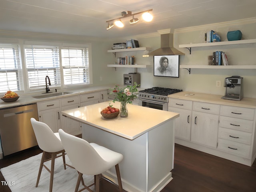
<instances>
[{"instance_id":1,"label":"ceiling track light fixture with lit round bulbs","mask_svg":"<svg viewBox=\"0 0 256 192\"><path fill-rule=\"evenodd\" d=\"M130 16L132 16L132 19L130 20L130 24L137 23L139 21L139 19L138 18L134 18L134 15L138 15L138 14L142 14L143 20L145 20L146 22L150 22L150 21L152 21L153 16L149 12L152 11L152 10L153 9L149 9L149 10L138 12L138 13L134 13L134 14L132 14L131 11L123 11L123 12L121 12L122 17L106 21L106 22L108 22L107 30L112 28L114 25L118 26L120 28L124 27L124 24L121 21L121 19L122 18L126 18L126 17L130 17ZM110 22L111 23L114 22L114 24L110 25Z\"/></svg>"}]
</instances>

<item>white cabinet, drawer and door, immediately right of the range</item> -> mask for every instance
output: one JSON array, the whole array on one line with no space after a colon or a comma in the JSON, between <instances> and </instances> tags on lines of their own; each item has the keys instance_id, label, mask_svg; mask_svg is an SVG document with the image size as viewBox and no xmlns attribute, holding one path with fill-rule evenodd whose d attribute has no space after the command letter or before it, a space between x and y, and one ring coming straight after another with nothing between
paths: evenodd
<instances>
[{"instance_id":1,"label":"white cabinet, drawer and door, immediately right of the range","mask_svg":"<svg viewBox=\"0 0 256 192\"><path fill-rule=\"evenodd\" d=\"M175 137L190 140L192 101L169 98L168 111L180 114L175 119Z\"/></svg>"}]
</instances>

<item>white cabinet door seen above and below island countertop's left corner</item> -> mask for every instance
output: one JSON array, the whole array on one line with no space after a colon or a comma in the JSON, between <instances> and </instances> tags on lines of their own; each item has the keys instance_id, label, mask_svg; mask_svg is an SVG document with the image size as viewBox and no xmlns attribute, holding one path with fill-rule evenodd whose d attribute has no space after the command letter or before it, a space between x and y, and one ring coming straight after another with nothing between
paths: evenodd
<instances>
[{"instance_id":1,"label":"white cabinet door seen above and below island countertop's left corner","mask_svg":"<svg viewBox=\"0 0 256 192\"><path fill-rule=\"evenodd\" d=\"M63 106L61 108L62 111L65 110L69 110L69 109L74 109L74 108L78 108L79 104L72 104L72 105L68 105L68 106ZM67 118L65 116L61 116L61 128L72 135L78 135L81 134L81 130L80 130L80 123L76 120Z\"/></svg>"}]
</instances>

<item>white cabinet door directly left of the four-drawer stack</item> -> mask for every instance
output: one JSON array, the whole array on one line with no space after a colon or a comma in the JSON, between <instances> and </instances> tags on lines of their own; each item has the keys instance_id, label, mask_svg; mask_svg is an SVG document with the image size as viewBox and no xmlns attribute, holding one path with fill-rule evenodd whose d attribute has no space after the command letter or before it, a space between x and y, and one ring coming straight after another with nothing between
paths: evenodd
<instances>
[{"instance_id":1,"label":"white cabinet door directly left of the four-drawer stack","mask_svg":"<svg viewBox=\"0 0 256 192\"><path fill-rule=\"evenodd\" d=\"M217 147L219 116L203 112L192 112L191 141Z\"/></svg>"}]
</instances>

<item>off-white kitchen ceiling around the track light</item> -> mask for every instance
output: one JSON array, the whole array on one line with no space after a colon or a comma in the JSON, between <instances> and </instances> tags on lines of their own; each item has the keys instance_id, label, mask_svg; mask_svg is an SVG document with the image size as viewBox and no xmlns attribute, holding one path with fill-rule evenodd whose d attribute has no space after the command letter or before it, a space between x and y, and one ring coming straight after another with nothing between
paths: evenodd
<instances>
[{"instance_id":1,"label":"off-white kitchen ceiling around the track light","mask_svg":"<svg viewBox=\"0 0 256 192\"><path fill-rule=\"evenodd\" d=\"M256 0L0 0L0 30L116 38L256 17ZM106 30L107 20L153 9L152 22Z\"/></svg>"}]
</instances>

